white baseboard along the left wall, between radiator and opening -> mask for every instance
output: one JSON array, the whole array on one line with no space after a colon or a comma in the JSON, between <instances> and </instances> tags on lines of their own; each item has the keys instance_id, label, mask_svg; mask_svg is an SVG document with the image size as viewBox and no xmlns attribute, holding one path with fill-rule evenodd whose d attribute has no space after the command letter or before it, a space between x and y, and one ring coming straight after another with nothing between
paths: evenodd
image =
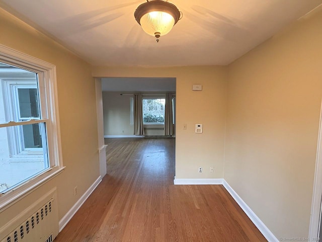
<instances>
[{"instance_id":1,"label":"white baseboard along the left wall, between radiator and opening","mask_svg":"<svg viewBox=\"0 0 322 242\"><path fill-rule=\"evenodd\" d=\"M66 226L69 220L74 216L74 214L78 211L78 209L83 205L83 203L88 199L88 197L93 193L96 187L102 181L102 177L99 176L92 186L83 194L81 198L71 207L71 209L62 217L59 221L59 232Z\"/></svg>"}]
</instances>

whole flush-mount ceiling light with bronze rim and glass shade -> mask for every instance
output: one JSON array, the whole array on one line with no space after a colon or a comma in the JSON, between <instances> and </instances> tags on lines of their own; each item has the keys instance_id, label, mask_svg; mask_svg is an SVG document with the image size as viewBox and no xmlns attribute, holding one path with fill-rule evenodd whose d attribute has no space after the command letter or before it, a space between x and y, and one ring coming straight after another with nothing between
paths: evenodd
<instances>
[{"instance_id":1,"label":"whole flush-mount ceiling light with bronze rim and glass shade","mask_svg":"<svg viewBox=\"0 0 322 242\"><path fill-rule=\"evenodd\" d=\"M153 0L141 4L134 12L136 21L145 33L152 35L159 42L159 37L170 32L182 18L182 12L169 2Z\"/></svg>"}]
</instances>

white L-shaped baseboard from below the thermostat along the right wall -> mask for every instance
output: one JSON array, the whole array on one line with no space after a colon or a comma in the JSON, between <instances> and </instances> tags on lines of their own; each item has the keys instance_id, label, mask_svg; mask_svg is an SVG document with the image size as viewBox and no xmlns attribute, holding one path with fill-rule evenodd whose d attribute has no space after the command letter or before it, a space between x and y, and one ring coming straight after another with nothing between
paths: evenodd
<instances>
[{"instance_id":1,"label":"white L-shaped baseboard from below the thermostat along the right wall","mask_svg":"<svg viewBox=\"0 0 322 242\"><path fill-rule=\"evenodd\" d=\"M228 185L227 181L223 178L202 178L202 179L174 179L174 185L223 185L231 197L236 201L241 209L244 210L246 215L252 220L255 226L261 231L264 237L269 242L278 242L279 240L269 230L262 220L253 212L253 210L241 199L238 194Z\"/></svg>"}]
</instances>

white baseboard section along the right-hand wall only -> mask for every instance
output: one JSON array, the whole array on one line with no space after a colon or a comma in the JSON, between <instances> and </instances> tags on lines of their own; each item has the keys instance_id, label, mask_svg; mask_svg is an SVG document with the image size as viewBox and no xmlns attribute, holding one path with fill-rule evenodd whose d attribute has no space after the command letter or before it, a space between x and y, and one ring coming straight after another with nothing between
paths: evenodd
<instances>
[{"instance_id":1,"label":"white baseboard section along the right-hand wall only","mask_svg":"<svg viewBox=\"0 0 322 242\"><path fill-rule=\"evenodd\" d=\"M264 237L268 241L278 242L278 240L274 234L269 230L268 227L262 222L262 220L253 212L253 210L241 199L238 194L229 186L229 184L223 179L223 187L227 190L227 192L231 195L231 197L236 201L241 209L244 210L246 215L252 220L255 226L261 231Z\"/></svg>"}]
</instances>

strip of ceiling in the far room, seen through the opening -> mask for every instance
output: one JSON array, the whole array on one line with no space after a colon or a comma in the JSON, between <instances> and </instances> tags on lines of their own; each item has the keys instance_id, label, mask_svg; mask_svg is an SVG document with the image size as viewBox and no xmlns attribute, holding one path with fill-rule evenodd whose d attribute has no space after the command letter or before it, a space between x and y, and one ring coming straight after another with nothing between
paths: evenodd
<instances>
[{"instance_id":1,"label":"strip of ceiling in the far room, seen through the opening","mask_svg":"<svg viewBox=\"0 0 322 242\"><path fill-rule=\"evenodd\" d=\"M176 92L176 78L102 78L102 91Z\"/></svg>"}]
</instances>

